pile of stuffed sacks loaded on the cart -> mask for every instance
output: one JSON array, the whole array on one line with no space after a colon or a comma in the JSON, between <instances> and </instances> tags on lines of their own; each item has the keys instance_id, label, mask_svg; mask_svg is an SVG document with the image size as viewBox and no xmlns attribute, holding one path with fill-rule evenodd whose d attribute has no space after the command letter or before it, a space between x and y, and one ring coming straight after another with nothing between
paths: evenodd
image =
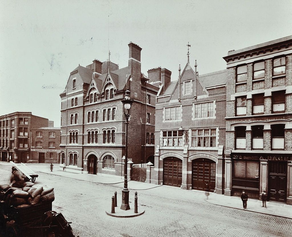
<instances>
[{"instance_id":1,"label":"pile of stuffed sacks loaded on the cart","mask_svg":"<svg viewBox=\"0 0 292 237\"><path fill-rule=\"evenodd\" d=\"M22 186L22 188L16 188L8 184L0 185L0 200L5 201L5 205L15 207L26 207L55 200L53 187L32 182L25 182Z\"/></svg>"}]
</instances>

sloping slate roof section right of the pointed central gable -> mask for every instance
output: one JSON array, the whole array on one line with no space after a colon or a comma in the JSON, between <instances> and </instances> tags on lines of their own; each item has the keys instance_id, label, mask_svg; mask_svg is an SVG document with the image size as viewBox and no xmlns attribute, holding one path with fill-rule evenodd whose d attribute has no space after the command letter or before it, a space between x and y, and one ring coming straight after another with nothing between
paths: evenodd
<instances>
[{"instance_id":1,"label":"sloping slate roof section right of the pointed central gable","mask_svg":"<svg viewBox=\"0 0 292 237\"><path fill-rule=\"evenodd\" d=\"M227 70L217 72L210 72L207 74L199 75L199 79L205 88L211 86L225 85L227 80Z\"/></svg>"}]
</instances>

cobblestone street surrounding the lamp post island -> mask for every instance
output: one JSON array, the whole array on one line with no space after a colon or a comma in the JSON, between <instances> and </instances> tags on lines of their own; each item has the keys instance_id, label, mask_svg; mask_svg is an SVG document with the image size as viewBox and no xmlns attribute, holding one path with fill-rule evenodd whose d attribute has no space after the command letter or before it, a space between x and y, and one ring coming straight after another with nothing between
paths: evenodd
<instances>
[{"instance_id":1,"label":"cobblestone street surrounding the lamp post island","mask_svg":"<svg viewBox=\"0 0 292 237\"><path fill-rule=\"evenodd\" d=\"M11 166L1 165L0 173L0 183L8 182ZM292 235L292 219L216 206L204 201L204 193L165 186L138 191L138 208L142 204L145 214L110 217L105 210L110 210L114 191L118 192L119 208L120 187L38 174L36 184L55 188L53 210L62 212L80 237ZM133 200L134 191L130 190L131 204Z\"/></svg>"}]
</instances>

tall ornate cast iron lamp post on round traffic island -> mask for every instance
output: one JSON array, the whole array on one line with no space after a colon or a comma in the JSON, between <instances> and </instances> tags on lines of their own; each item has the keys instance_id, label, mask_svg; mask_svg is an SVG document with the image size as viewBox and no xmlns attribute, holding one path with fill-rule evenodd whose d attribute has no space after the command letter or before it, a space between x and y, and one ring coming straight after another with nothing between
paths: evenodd
<instances>
[{"instance_id":1,"label":"tall ornate cast iron lamp post on round traffic island","mask_svg":"<svg viewBox=\"0 0 292 237\"><path fill-rule=\"evenodd\" d=\"M124 115L126 117L126 147L125 147L125 165L124 165L124 189L122 190L122 210L129 210L129 190L128 190L128 124L129 117L131 114L131 106L133 104L134 99L130 97L131 92L126 90L125 97L122 100L124 107Z\"/></svg>"}]
</instances>

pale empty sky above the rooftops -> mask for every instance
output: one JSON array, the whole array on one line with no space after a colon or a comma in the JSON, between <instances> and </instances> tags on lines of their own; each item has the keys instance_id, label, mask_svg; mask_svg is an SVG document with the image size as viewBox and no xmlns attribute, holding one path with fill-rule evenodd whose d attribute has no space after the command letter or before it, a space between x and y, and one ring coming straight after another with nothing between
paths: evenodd
<instances>
[{"instance_id":1,"label":"pale empty sky above the rooftops","mask_svg":"<svg viewBox=\"0 0 292 237\"><path fill-rule=\"evenodd\" d=\"M0 1L0 115L31 111L60 126L60 93L70 72L94 59L128 65L128 43L141 48L141 70L197 60L199 74L226 68L222 57L292 35L288 1Z\"/></svg>"}]
</instances>

